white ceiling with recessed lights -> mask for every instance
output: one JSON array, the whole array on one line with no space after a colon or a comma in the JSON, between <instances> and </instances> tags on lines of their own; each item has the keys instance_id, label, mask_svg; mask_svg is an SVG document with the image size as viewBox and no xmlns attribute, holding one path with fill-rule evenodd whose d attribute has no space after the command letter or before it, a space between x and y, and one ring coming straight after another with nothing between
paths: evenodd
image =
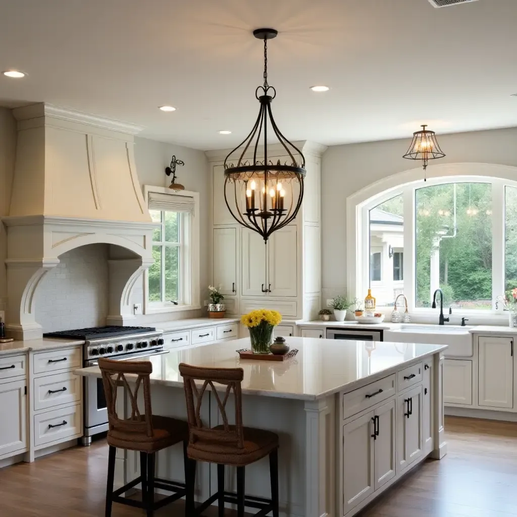
<instances>
[{"instance_id":1,"label":"white ceiling with recessed lights","mask_svg":"<svg viewBox=\"0 0 517 517\"><path fill-rule=\"evenodd\" d=\"M151 139L236 145L259 107L251 31L272 26L273 114L291 140L517 126L516 20L516 0L0 0L0 70L28 73L0 75L0 104L46 101L142 125Z\"/></svg>"}]
</instances>

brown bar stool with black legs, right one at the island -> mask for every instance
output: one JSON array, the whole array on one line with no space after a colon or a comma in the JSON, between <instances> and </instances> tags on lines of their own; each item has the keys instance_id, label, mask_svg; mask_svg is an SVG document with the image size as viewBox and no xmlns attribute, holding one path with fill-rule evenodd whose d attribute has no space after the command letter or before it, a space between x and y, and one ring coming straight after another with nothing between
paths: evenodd
<instances>
[{"instance_id":1,"label":"brown bar stool with black legs, right one at the island","mask_svg":"<svg viewBox=\"0 0 517 517\"><path fill-rule=\"evenodd\" d=\"M187 447L187 514L199 515L216 500L219 504L219 517L224 515L224 503L237 505L238 517L244 516L246 506L258 508L255 515L267 515L272 512L278 517L278 435L270 431L252 429L242 426L241 382L244 377L242 368L199 368L181 363L179 372L183 377L187 414L189 419L189 444ZM196 381L204 381L201 389ZM224 398L221 400L214 383L226 385ZM201 384L201 383L200 383ZM200 412L203 395L210 386L216 398L223 423L214 428L205 428ZM220 388L221 389L221 388ZM230 425L226 417L226 402L231 392L235 397L235 424ZM195 400L194 400L195 397ZM269 455L269 473L271 479L271 499L245 495L245 467ZM194 508L195 462L217 463L217 493L212 494L204 503ZM225 466L237 467L237 493L224 491Z\"/></svg>"}]
</instances>

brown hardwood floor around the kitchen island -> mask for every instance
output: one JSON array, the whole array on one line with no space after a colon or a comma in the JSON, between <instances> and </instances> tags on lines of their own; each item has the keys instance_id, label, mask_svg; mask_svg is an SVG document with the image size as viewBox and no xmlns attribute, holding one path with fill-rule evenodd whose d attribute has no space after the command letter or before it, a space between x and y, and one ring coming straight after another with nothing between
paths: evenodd
<instances>
[{"instance_id":1,"label":"brown hardwood floor around the kitchen island","mask_svg":"<svg viewBox=\"0 0 517 517\"><path fill-rule=\"evenodd\" d=\"M517 516L517 423L447 417L446 431L447 456L416 467L361 517ZM0 516L104 515L107 460L99 442L0 470ZM143 514L113 505L113 517ZM183 517L183 504L156 512L165 515Z\"/></svg>"}]
</instances>

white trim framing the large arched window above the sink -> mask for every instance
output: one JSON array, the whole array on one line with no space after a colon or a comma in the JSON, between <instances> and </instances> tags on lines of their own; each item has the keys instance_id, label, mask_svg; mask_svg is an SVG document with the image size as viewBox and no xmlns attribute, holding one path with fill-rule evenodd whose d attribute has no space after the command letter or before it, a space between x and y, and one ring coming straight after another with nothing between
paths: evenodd
<instances>
[{"instance_id":1,"label":"white trim framing the large arched window above the sink","mask_svg":"<svg viewBox=\"0 0 517 517\"><path fill-rule=\"evenodd\" d=\"M424 183L422 171L410 169L389 176L381 181L359 190L346 199L346 264L347 264L347 293L351 298L364 296L368 285L368 268L364 267L364 258L369 256L368 228L369 209L391 199L399 194L404 194L404 248L405 258L415 257L415 190L425 186L468 182L491 183L493 199L503 196L505 186L517 187L514 178L517 168L509 165L490 163L452 163L433 165L428 169L428 180ZM409 195L407 195L409 194ZM410 216L406 222L407 216ZM477 316L477 321L491 321L507 323L507 313L501 309L495 309L495 293L504 292L504 274L497 271L505 271L505 209L504 203L493 203L493 232L492 232L492 310L461 310L462 315ZM497 224L500 221L500 224ZM415 308L415 261L405 260L403 269L404 293L408 300L409 311L424 320L436 317L436 310L427 308ZM392 307L379 307L379 312L390 314Z\"/></svg>"}]
</instances>

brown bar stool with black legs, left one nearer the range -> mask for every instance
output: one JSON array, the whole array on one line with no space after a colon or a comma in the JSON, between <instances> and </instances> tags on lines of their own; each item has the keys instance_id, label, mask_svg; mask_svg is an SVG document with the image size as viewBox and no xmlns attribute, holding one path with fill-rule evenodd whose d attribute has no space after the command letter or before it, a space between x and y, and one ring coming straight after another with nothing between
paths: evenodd
<instances>
[{"instance_id":1,"label":"brown bar stool with black legs, left one nearer the range","mask_svg":"<svg viewBox=\"0 0 517 517\"><path fill-rule=\"evenodd\" d=\"M187 493L185 483L155 477L155 454L166 447L183 442L184 466L187 474L188 423L175 418L153 415L149 382L153 364L149 361L114 361L101 358L99 359L99 368L102 372L109 421L108 444L110 452L105 515L111 517L111 507L113 501L115 501L115 503L143 508L146 510L147 516L152 517L155 510L172 503L172 501L183 497ZM128 383L127 374L137 375L134 390ZM143 415L140 413L138 406L138 392L142 385L145 409ZM128 419L119 418L116 412L118 387L124 388L126 396L131 402L131 416ZM113 491L117 447L140 452L140 476ZM142 501L120 496L138 483L142 484ZM155 503L155 488L174 493Z\"/></svg>"}]
</instances>

